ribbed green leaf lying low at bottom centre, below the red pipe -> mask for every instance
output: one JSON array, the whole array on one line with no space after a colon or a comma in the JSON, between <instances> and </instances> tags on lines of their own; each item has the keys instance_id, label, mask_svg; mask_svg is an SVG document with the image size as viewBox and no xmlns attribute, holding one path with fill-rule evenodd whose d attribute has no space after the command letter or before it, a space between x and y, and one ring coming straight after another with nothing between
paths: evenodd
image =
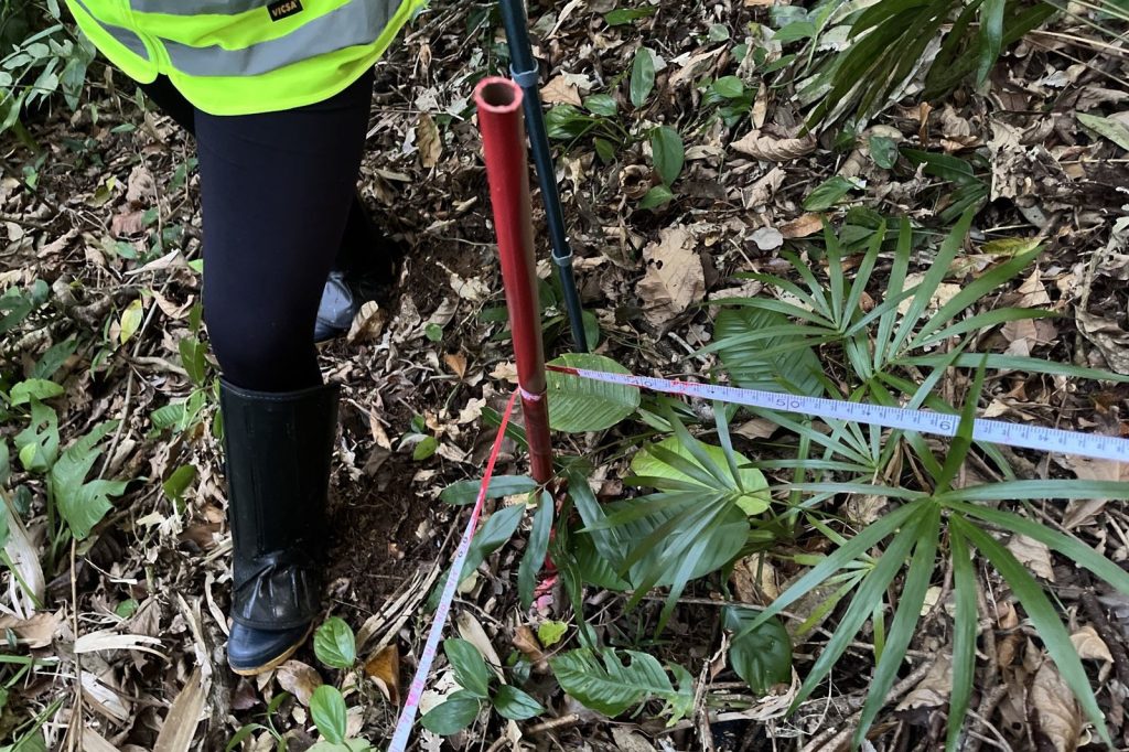
<instances>
[{"instance_id":1,"label":"ribbed green leaf lying low at bottom centre, below the red pipe","mask_svg":"<svg viewBox=\"0 0 1129 752\"><path fill-rule=\"evenodd\" d=\"M693 683L675 688L658 659L646 653L605 649L597 654L580 648L550 658L549 665L562 690L612 718L650 699L666 701L672 723L693 711Z\"/></svg>"}]
</instances>

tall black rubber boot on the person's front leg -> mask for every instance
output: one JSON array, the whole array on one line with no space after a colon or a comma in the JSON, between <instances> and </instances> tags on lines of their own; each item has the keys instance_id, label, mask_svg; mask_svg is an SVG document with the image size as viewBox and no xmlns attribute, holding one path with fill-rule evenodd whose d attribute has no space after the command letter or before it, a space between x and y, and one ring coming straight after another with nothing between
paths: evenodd
<instances>
[{"instance_id":1,"label":"tall black rubber boot on the person's front leg","mask_svg":"<svg viewBox=\"0 0 1129 752\"><path fill-rule=\"evenodd\" d=\"M321 610L338 390L221 382L220 409L234 559L227 658L252 675L289 658Z\"/></svg>"}]
</instances>

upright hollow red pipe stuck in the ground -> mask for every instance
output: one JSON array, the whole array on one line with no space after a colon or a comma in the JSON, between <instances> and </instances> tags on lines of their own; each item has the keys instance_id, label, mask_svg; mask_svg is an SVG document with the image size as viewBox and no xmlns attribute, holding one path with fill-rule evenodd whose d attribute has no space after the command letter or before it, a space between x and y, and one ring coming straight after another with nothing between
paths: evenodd
<instances>
[{"instance_id":1,"label":"upright hollow red pipe stuck in the ground","mask_svg":"<svg viewBox=\"0 0 1129 752\"><path fill-rule=\"evenodd\" d=\"M506 78L487 78L474 88L474 103L479 112L498 255L506 286L522 414L530 441L530 463L533 479L545 483L553 475L553 456L549 440L545 356L541 342L541 305L533 255L522 89Z\"/></svg>"}]
</instances>

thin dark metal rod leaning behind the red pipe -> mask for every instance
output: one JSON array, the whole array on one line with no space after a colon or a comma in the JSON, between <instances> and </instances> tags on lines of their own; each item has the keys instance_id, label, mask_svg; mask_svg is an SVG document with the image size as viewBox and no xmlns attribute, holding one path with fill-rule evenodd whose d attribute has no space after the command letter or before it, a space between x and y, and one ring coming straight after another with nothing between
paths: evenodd
<instances>
[{"instance_id":1,"label":"thin dark metal rod leaning behind the red pipe","mask_svg":"<svg viewBox=\"0 0 1129 752\"><path fill-rule=\"evenodd\" d=\"M533 46L530 44L525 3L523 0L501 0L500 5L502 23L506 26L506 42L509 45L510 75L525 94L526 130L530 135L533 164L537 170L537 183L541 185L541 198L545 204L553 263L557 265L561 291L564 295L564 308L568 311L569 324L572 327L572 347L577 352L587 352L588 338L584 332L584 308L576 289L576 278L572 276L572 247L568 242L560 193L557 190L557 169L553 166L549 133L545 130L545 115L541 107L537 61L533 59Z\"/></svg>"}]
</instances>

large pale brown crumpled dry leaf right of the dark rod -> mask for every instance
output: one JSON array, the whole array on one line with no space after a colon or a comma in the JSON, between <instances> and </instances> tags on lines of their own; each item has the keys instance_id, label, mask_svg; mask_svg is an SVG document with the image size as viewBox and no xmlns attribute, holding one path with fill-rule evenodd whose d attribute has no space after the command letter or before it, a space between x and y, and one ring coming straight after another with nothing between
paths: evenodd
<instances>
[{"instance_id":1,"label":"large pale brown crumpled dry leaf right of the dark rod","mask_svg":"<svg viewBox=\"0 0 1129 752\"><path fill-rule=\"evenodd\" d=\"M706 295L706 273L695 248L693 233L684 226L659 233L659 239L644 248L647 274L638 285L639 297L648 303L644 315L655 326L666 324Z\"/></svg>"}]
</instances>

